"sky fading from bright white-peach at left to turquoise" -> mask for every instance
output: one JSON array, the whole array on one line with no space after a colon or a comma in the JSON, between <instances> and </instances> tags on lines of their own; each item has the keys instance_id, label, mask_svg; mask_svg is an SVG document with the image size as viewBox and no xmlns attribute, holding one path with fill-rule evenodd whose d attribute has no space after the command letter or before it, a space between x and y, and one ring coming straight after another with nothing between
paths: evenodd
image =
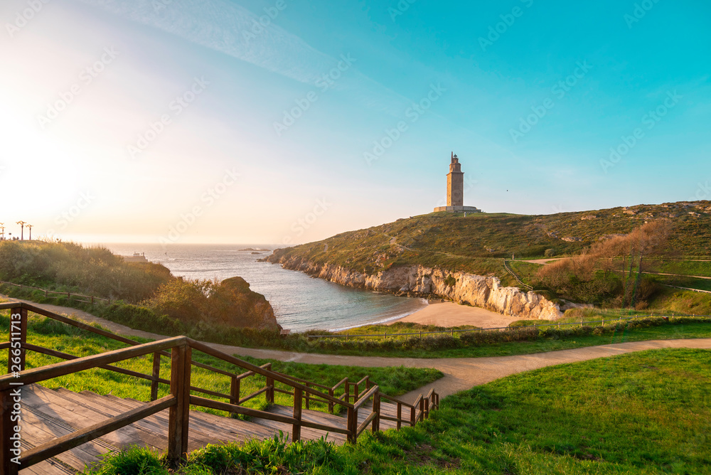
<instances>
[{"instance_id":1,"label":"sky fading from bright white-peach at left to turquoise","mask_svg":"<svg viewBox=\"0 0 711 475\"><path fill-rule=\"evenodd\" d=\"M451 151L488 212L711 199L705 1L4 0L0 21L14 234L317 240L431 211Z\"/></svg>"}]
</instances>

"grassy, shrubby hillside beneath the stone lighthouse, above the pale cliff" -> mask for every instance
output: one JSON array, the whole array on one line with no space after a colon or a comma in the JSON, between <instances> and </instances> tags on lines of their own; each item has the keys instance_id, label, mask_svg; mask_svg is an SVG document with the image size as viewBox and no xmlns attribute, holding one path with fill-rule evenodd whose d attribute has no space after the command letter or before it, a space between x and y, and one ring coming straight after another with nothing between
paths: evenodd
<instances>
[{"instance_id":1,"label":"grassy, shrubby hillside beneath the stone lighthouse, above the pale cliff","mask_svg":"<svg viewBox=\"0 0 711 475\"><path fill-rule=\"evenodd\" d=\"M365 274L423 265L493 275L519 287L506 261L523 282L561 305L646 309L668 304L663 284L711 289L711 280L652 275L711 276L711 262L703 262L710 246L711 202L698 201L539 216L430 213L277 250L269 260ZM557 260L522 262L545 258ZM711 295L702 299L711 306Z\"/></svg>"}]
</instances>

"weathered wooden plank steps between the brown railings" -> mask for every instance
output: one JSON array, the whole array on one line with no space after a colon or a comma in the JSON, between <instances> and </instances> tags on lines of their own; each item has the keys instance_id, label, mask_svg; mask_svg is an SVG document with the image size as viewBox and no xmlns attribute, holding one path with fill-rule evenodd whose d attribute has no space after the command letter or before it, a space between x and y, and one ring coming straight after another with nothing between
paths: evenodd
<instances>
[{"instance_id":1,"label":"weathered wooden plank steps between the brown railings","mask_svg":"<svg viewBox=\"0 0 711 475\"><path fill-rule=\"evenodd\" d=\"M23 452L57 437L84 429L97 422L108 420L129 410L145 405L145 402L122 399L112 395L97 395L90 391L73 393L59 388L50 390L40 385L28 385L22 389L22 449ZM292 415L292 407L273 406L269 412ZM396 406L381 402L381 413L395 417ZM359 414L363 422L369 411ZM303 410L304 420L324 425L346 428L346 417L326 412ZM63 452L52 459L20 471L21 474L55 475L75 474L86 465L100 461L100 455L109 451L121 451L132 446L148 447L164 452L168 446L168 410L163 410L145 419L122 427L91 442ZM380 429L395 428L395 422L381 420ZM250 422L230 417L220 417L205 412L190 412L188 451L220 442L243 442L245 439L265 439L282 431L292 431L292 425L265 419ZM303 427L302 439L326 437L336 444L346 442L343 434L326 433Z\"/></svg>"}]
</instances>

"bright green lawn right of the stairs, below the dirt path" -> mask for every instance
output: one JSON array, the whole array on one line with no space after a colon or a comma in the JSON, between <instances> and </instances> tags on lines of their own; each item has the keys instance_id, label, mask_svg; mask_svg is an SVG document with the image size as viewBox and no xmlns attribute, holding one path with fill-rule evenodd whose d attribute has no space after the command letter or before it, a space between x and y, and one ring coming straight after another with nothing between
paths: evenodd
<instances>
[{"instance_id":1,"label":"bright green lawn right of the stairs, below the dirt path","mask_svg":"<svg viewBox=\"0 0 711 475\"><path fill-rule=\"evenodd\" d=\"M279 439L209 446L181 474L711 474L711 351L656 350L513 375L442 400L414 429L355 446ZM109 458L101 475L161 469Z\"/></svg>"}]
</instances>

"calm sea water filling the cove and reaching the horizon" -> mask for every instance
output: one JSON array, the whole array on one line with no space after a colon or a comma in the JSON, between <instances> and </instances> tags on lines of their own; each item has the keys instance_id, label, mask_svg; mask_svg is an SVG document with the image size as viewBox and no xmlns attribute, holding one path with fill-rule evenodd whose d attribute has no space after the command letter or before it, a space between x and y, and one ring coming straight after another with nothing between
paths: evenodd
<instances>
[{"instance_id":1,"label":"calm sea water filling the cove and reaching the horizon","mask_svg":"<svg viewBox=\"0 0 711 475\"><path fill-rule=\"evenodd\" d=\"M341 330L392 321L427 306L424 299L352 289L314 279L281 265L257 262L272 252L255 255L241 249L274 249L268 245L105 244L114 254L145 253L146 259L168 267L176 277L227 279L239 276L263 294L284 329Z\"/></svg>"}]
</instances>

